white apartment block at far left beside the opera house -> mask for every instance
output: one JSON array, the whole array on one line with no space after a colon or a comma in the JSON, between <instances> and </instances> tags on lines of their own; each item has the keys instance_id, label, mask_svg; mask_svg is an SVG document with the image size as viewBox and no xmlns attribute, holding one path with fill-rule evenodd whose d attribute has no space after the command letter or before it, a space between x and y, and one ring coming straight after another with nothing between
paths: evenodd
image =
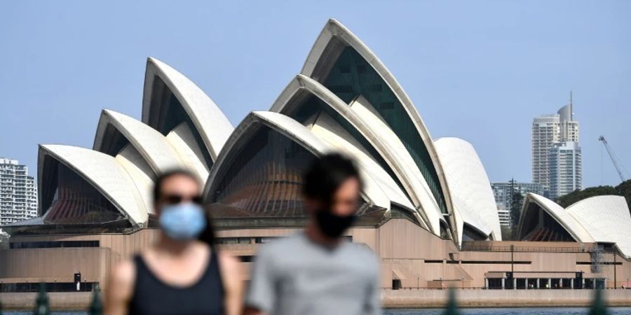
<instances>
[{"instance_id":1,"label":"white apartment block at far left beside the opera house","mask_svg":"<svg viewBox=\"0 0 631 315\"><path fill-rule=\"evenodd\" d=\"M37 190L28 167L0 158L0 225L36 216Z\"/></svg>"}]
</instances>

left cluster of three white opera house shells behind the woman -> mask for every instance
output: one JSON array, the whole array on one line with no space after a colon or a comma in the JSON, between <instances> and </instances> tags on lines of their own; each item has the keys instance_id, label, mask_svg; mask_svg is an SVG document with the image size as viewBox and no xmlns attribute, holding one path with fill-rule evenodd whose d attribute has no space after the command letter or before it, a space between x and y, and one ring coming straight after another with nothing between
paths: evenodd
<instances>
[{"instance_id":1,"label":"left cluster of three white opera house shells behind the woman","mask_svg":"<svg viewBox=\"0 0 631 315\"><path fill-rule=\"evenodd\" d=\"M157 174L186 168L208 178L233 126L181 73L147 60L142 122L101 112L92 149L41 145L39 218L7 230L125 231L153 225Z\"/></svg>"}]
</instances>

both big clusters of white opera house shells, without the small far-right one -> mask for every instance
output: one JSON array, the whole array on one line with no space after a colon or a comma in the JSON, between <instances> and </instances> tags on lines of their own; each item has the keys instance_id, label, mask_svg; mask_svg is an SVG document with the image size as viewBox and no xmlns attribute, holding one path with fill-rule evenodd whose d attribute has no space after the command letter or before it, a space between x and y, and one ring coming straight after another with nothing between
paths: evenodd
<instances>
[{"instance_id":1,"label":"both big clusters of white opera house shells, without the small far-right one","mask_svg":"<svg viewBox=\"0 0 631 315\"><path fill-rule=\"evenodd\" d=\"M250 113L236 128L191 80L149 58L142 121L104 109L91 150L40 146L41 217L7 228L154 226L153 181L176 167L203 179L219 225L299 226L301 173L332 151L355 159L365 181L358 225L405 216L457 244L501 240L473 146L435 143L384 64L335 20L271 109Z\"/></svg>"}]
</instances>

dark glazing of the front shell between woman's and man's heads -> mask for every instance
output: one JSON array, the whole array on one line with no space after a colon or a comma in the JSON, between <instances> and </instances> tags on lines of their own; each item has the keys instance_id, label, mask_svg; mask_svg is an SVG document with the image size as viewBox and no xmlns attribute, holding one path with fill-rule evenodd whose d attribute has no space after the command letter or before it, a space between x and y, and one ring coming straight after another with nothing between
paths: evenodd
<instances>
[{"instance_id":1,"label":"dark glazing of the front shell between woman's and man's heads","mask_svg":"<svg viewBox=\"0 0 631 315\"><path fill-rule=\"evenodd\" d=\"M261 127L219 179L214 216L304 217L302 172L315 155Z\"/></svg>"}]
</instances>

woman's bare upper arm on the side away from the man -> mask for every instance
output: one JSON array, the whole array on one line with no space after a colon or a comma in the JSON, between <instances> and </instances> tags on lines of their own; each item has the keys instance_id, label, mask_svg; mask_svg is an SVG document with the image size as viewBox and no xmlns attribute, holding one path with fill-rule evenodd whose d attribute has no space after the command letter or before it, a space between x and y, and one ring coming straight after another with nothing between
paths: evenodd
<instances>
[{"instance_id":1,"label":"woman's bare upper arm on the side away from the man","mask_svg":"<svg viewBox=\"0 0 631 315\"><path fill-rule=\"evenodd\" d=\"M131 260L125 260L112 270L105 290L105 315L128 314L129 301L133 294L136 267Z\"/></svg>"}]
</instances>

